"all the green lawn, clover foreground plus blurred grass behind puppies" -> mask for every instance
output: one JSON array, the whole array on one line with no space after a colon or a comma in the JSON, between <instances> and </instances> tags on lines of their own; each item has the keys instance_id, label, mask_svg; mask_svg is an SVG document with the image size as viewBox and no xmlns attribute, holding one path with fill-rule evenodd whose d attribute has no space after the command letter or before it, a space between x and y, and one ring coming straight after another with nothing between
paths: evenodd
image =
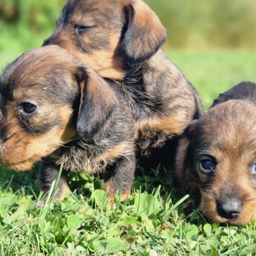
<instances>
[{"instance_id":1,"label":"all the green lawn, clover foreground plus blurred grass behind puppies","mask_svg":"<svg viewBox=\"0 0 256 256\"><path fill-rule=\"evenodd\" d=\"M0 53L0 68L17 55ZM168 56L196 86L206 109L233 85L256 82L256 52L173 51ZM98 176L70 175L73 195L55 204L55 188L46 203L36 176L36 168L28 173L2 169L1 255L255 255L256 221L239 228L209 222L197 199L173 188L169 169L138 168L130 200L120 203L116 197L113 206Z\"/></svg>"}]
</instances>

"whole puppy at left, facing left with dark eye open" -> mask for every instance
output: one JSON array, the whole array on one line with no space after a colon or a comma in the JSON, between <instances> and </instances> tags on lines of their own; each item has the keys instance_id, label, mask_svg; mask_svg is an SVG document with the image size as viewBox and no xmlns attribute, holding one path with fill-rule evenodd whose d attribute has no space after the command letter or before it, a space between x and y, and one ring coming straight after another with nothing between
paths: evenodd
<instances>
[{"instance_id":1,"label":"whole puppy at left, facing left with dark eye open","mask_svg":"<svg viewBox=\"0 0 256 256\"><path fill-rule=\"evenodd\" d=\"M69 51L45 46L16 59L0 78L1 164L29 170L42 159L47 190L65 171L106 171L111 202L131 191L135 171L134 119L119 85L107 84ZM61 198L67 191L61 177Z\"/></svg>"}]
</instances>

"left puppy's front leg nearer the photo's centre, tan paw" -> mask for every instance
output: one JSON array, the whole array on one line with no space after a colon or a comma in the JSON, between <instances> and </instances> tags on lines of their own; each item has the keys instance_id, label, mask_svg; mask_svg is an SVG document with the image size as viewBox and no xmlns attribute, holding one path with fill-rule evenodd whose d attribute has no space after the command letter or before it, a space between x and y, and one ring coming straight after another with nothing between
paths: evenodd
<instances>
[{"instance_id":1,"label":"left puppy's front leg nearer the photo's centre, tan paw","mask_svg":"<svg viewBox=\"0 0 256 256\"><path fill-rule=\"evenodd\" d=\"M108 169L110 177L105 180L103 189L107 191L110 202L114 202L114 197L121 191L121 201L127 200L131 194L135 172L135 153L127 154L118 158Z\"/></svg>"}]
</instances>

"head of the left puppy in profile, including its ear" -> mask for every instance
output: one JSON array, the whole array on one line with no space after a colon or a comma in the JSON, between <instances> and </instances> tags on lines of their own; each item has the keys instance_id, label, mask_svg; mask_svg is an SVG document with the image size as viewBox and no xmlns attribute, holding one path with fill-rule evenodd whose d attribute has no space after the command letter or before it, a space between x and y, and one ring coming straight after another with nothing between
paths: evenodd
<instances>
[{"instance_id":1,"label":"head of the left puppy in profile, including its ear","mask_svg":"<svg viewBox=\"0 0 256 256\"><path fill-rule=\"evenodd\" d=\"M0 77L0 163L28 170L74 137L94 139L116 103L108 85L68 51L24 53Z\"/></svg>"}]
</instances>

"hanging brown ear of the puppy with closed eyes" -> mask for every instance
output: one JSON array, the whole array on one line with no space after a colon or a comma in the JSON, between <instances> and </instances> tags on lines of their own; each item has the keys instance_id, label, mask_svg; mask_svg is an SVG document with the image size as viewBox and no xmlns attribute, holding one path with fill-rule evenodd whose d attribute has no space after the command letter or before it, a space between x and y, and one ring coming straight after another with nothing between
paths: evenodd
<instances>
[{"instance_id":1,"label":"hanging brown ear of the puppy with closed eyes","mask_svg":"<svg viewBox=\"0 0 256 256\"><path fill-rule=\"evenodd\" d=\"M126 63L138 65L161 47L166 40L166 30L142 0L133 1L125 13L127 21L120 51Z\"/></svg>"}]
</instances>

